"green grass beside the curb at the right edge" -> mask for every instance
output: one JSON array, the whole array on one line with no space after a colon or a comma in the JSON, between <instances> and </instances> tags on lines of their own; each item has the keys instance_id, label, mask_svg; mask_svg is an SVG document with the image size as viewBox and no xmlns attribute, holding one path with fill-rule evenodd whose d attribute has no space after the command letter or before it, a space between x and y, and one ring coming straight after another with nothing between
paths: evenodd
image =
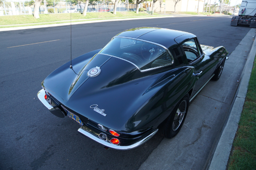
<instances>
[{"instance_id":1,"label":"green grass beside the curb at the right edge","mask_svg":"<svg viewBox=\"0 0 256 170\"><path fill-rule=\"evenodd\" d=\"M256 58L228 170L256 170Z\"/></svg>"}]
</instances>

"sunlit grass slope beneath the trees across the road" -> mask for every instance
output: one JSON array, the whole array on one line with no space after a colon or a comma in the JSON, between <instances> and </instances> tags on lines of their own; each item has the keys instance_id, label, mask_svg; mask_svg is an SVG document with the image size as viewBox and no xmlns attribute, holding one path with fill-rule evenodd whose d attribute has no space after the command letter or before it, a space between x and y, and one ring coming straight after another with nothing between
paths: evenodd
<instances>
[{"instance_id":1,"label":"sunlit grass slope beneath the trees across the road","mask_svg":"<svg viewBox=\"0 0 256 170\"><path fill-rule=\"evenodd\" d=\"M154 14L158 15L158 14ZM0 25L13 25L13 24L26 24L26 23L44 23L54 21L65 21L70 20L70 13L60 14L39 14L40 18L35 19L33 15L11 15L11 16L0 16ZM140 16L151 16L145 12L139 12L136 14L134 11L128 12L116 12L114 15L112 12L87 12L86 16L81 13L72 13L72 20L79 19L92 19L92 18L113 18L113 17L140 17ZM45 24L44 24L45 25Z\"/></svg>"}]
</instances>

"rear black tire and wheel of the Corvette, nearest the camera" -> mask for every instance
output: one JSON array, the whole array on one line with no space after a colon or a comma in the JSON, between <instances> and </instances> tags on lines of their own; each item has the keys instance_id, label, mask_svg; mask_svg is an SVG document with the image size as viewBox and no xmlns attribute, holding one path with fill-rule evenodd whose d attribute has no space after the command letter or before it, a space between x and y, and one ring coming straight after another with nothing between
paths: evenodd
<instances>
[{"instance_id":1,"label":"rear black tire and wheel of the Corvette, nearest the camera","mask_svg":"<svg viewBox=\"0 0 256 170\"><path fill-rule=\"evenodd\" d=\"M171 139L180 131L189 109L189 95L183 97L177 103L172 113L166 118L160 127L160 133L165 138ZM177 113L178 112L178 113Z\"/></svg>"}]
</instances>

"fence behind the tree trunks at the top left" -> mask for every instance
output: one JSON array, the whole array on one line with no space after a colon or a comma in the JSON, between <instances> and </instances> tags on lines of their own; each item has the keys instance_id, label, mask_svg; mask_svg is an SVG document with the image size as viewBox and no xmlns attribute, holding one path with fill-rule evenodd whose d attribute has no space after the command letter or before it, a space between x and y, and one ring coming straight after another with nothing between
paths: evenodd
<instances>
[{"instance_id":1,"label":"fence behind the tree trunks at the top left","mask_svg":"<svg viewBox=\"0 0 256 170\"><path fill-rule=\"evenodd\" d=\"M69 2L49 2L42 1L39 7L39 14L51 13L70 13L80 12L83 13L85 3L69 3ZM0 0L0 16L1 15L22 15L34 14L35 2L10 2ZM89 4L87 12L111 12L114 10L114 4L95 3ZM136 4L123 4L118 3L116 11L136 11Z\"/></svg>"}]
</instances>

